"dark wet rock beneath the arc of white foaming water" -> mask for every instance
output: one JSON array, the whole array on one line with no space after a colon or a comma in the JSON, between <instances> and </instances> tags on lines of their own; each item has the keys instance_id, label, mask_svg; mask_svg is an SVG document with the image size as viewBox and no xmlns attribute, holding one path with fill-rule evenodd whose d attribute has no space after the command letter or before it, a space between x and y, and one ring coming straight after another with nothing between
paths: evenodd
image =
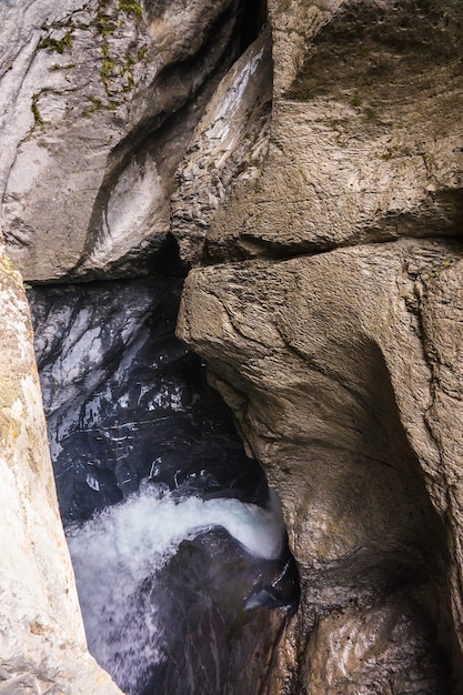
<instances>
[{"instance_id":1,"label":"dark wet rock beneath the arc of white foaming water","mask_svg":"<svg viewBox=\"0 0 463 695\"><path fill-rule=\"evenodd\" d=\"M274 587L279 577L280 593ZM269 603L255 598L251 607L250 600L243 603L243 590L254 597L264 591L269 596L273 593L270 607L280 610L269 611ZM175 647L173 658L165 659L157 673L157 689L142 688L143 695L167 691L231 695L264 687L282 616L298 606L299 577L292 557L256 561L223 532L214 531L180 546L163 584L155 585L157 595L159 591L165 596L163 605L169 606L163 624L178 615L185 628L177 634L181 646L170 644L175 637L170 631L167 634L164 648L169 653Z\"/></svg>"}]
</instances>

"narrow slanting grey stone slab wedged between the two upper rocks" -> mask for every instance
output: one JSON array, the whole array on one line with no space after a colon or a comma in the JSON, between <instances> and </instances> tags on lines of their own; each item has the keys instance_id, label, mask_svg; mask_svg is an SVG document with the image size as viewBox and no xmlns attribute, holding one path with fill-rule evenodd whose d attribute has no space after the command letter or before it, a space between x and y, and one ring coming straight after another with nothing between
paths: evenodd
<instances>
[{"instance_id":1,"label":"narrow slanting grey stone slab wedged between the two upper rocks","mask_svg":"<svg viewBox=\"0 0 463 695\"><path fill-rule=\"evenodd\" d=\"M199 263L230 184L258 178L268 151L272 63L263 32L227 73L198 124L177 172L171 232L180 253Z\"/></svg>"}]
</instances>

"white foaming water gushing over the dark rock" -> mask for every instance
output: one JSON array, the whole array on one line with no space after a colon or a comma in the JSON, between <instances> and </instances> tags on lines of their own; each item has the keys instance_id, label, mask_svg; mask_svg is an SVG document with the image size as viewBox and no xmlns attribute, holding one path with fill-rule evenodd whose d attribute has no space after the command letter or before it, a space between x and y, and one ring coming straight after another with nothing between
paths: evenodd
<instances>
[{"instance_id":1,"label":"white foaming water gushing over the dark rock","mask_svg":"<svg viewBox=\"0 0 463 695\"><path fill-rule=\"evenodd\" d=\"M280 556L284 523L272 491L263 510L234 498L173 500L147 485L68 530L90 652L128 693L138 692L140 673L164 659L165 626L144 587L151 588L183 540L218 526L255 557Z\"/></svg>"}]
</instances>

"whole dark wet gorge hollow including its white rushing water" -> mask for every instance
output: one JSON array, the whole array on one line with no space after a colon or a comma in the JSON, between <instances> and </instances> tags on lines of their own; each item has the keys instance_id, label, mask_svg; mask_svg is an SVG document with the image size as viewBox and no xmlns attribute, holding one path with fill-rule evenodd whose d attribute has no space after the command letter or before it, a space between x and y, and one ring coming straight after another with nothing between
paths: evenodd
<instances>
[{"instance_id":1,"label":"whole dark wet gorge hollow including its white rushing water","mask_svg":"<svg viewBox=\"0 0 463 695\"><path fill-rule=\"evenodd\" d=\"M125 693L259 692L298 573L276 496L174 336L181 288L29 292L60 508L90 652Z\"/></svg>"}]
</instances>

